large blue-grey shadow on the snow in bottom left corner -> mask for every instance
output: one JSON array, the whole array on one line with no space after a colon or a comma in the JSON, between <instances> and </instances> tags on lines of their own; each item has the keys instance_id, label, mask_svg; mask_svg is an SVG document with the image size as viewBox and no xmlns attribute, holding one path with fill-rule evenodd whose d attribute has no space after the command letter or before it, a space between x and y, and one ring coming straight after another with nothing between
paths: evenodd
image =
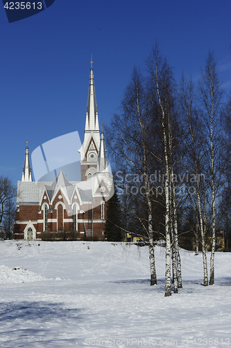
<instances>
[{"instance_id":1,"label":"large blue-grey shadow on the snow in bottom left corner","mask_svg":"<svg viewBox=\"0 0 231 348\"><path fill-rule=\"evenodd\" d=\"M4 347L66 348L76 345L77 331L79 328L81 331L80 325L85 320L87 315L83 308L65 308L64 303L0 303Z\"/></svg>"}]
</instances>

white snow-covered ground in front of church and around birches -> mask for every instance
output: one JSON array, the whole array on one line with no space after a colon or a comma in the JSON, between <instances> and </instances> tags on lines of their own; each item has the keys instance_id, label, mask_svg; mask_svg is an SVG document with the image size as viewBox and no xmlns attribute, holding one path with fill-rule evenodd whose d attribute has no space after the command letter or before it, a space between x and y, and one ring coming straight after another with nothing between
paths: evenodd
<instances>
[{"instance_id":1,"label":"white snow-covered ground in front of church and around birches","mask_svg":"<svg viewBox=\"0 0 231 348\"><path fill-rule=\"evenodd\" d=\"M0 242L0 347L231 347L231 254L209 287L202 255L180 255L183 288L164 297L160 246L151 287L146 246Z\"/></svg>"}]
</instances>

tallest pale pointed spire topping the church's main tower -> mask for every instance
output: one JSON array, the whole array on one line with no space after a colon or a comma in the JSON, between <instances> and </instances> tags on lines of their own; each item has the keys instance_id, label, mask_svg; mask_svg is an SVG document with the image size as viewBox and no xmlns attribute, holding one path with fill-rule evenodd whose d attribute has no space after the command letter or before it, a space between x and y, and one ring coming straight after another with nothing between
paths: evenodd
<instances>
[{"instance_id":1,"label":"tallest pale pointed spire topping the church's main tower","mask_svg":"<svg viewBox=\"0 0 231 348\"><path fill-rule=\"evenodd\" d=\"M99 120L98 120L98 111L96 104L96 90L94 88L94 75L93 75L93 61L91 56L91 70L89 76L89 91L88 91L88 100L87 100L87 116L86 116L86 125L85 132L96 131L99 132Z\"/></svg>"}]
</instances>

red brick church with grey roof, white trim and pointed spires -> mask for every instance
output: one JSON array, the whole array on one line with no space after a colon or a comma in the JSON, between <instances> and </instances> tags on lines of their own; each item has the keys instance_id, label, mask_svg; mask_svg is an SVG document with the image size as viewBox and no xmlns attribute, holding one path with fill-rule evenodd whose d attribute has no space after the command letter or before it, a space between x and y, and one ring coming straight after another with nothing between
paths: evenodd
<instances>
[{"instance_id":1,"label":"red brick church with grey roof, white trim and pointed spires","mask_svg":"<svg viewBox=\"0 0 231 348\"><path fill-rule=\"evenodd\" d=\"M40 239L42 232L75 231L79 239L104 239L106 202L114 193L100 134L91 62L85 136L80 150L81 181L68 181L60 170L53 182L33 182L26 142L22 181L17 182L14 239Z\"/></svg>"}]
</instances>

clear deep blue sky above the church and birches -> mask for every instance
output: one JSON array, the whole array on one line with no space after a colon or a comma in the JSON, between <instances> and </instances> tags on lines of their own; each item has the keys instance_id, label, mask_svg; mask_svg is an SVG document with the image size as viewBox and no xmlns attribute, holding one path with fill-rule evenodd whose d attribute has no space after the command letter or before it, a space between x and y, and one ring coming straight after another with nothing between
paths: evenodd
<instances>
[{"instance_id":1,"label":"clear deep blue sky above the church and birches","mask_svg":"<svg viewBox=\"0 0 231 348\"><path fill-rule=\"evenodd\" d=\"M21 180L26 134L30 153L76 130L83 141L91 52L104 124L155 40L177 81L182 71L198 79L214 49L229 92L230 13L230 0L55 0L42 13L9 24L0 3L0 175Z\"/></svg>"}]
</instances>

